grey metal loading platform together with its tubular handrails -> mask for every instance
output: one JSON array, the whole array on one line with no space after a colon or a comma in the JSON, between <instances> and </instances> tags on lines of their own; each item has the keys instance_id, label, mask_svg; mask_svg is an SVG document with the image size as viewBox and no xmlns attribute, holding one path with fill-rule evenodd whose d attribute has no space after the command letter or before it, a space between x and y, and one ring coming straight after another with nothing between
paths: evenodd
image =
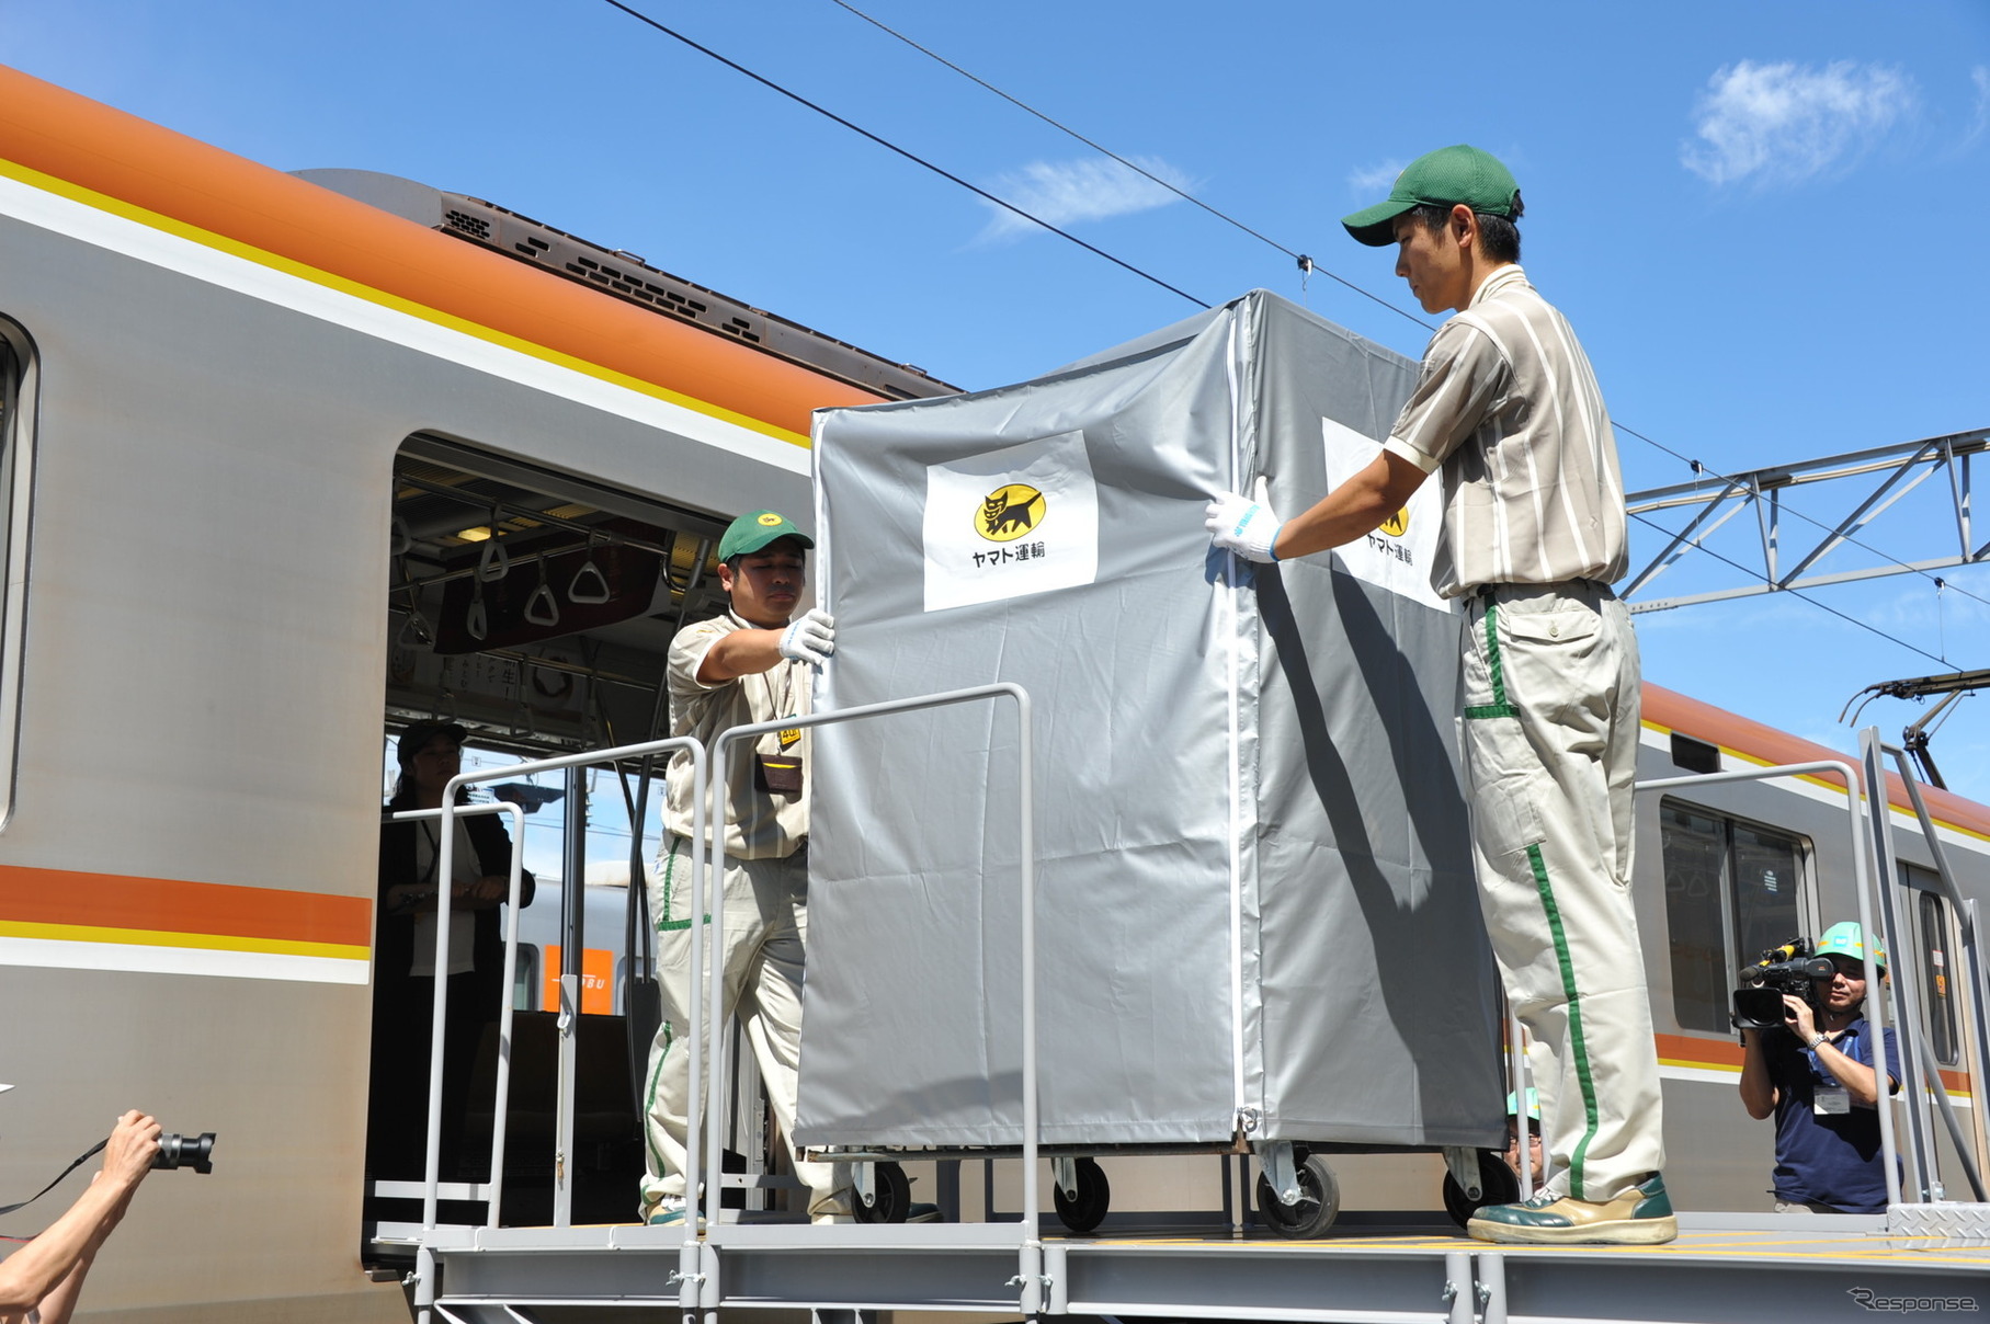
<instances>
[{"instance_id":1,"label":"grey metal loading platform together with its tubular handrails","mask_svg":"<svg viewBox=\"0 0 1990 1324\"><path fill-rule=\"evenodd\" d=\"M1013 686L959 690L943 696L894 700L834 714L790 720L826 724L897 712L911 706L951 704L985 698L1027 696ZM772 732L778 724L762 724ZM1027 734L1029 722L1021 724ZM734 728L716 742L762 734ZM1877 734L1865 738L1867 783L1881 777L1883 753ZM696 742L659 742L635 751ZM627 753L627 751L611 751ZM693 753L702 757L700 749ZM567 767L599 753L549 759L537 767ZM714 759L722 771L722 757ZM535 767L535 765L525 765ZM1851 765L1835 769L1847 785L1859 777ZM1025 763L1027 769L1027 763ZM503 775L521 769L501 769ZM1735 773L1699 775L1695 783L1737 775L1765 777L1813 771L1813 765L1763 767ZM1906 775L1902 761L1902 775ZM716 781L724 781L714 773ZM1648 783L1658 789L1664 783ZM1914 791L1908 781L1910 793ZM1027 771L1021 803L1029 803ZM1934 837L1920 817L1926 835ZM1865 879L1879 879L1881 899L1892 905L1894 861L1885 849L1867 861L1857 801L1849 801L1851 847L1861 863L1861 924L1873 932L1873 909ZM454 813L448 807L444 817ZM1877 827L1887 827L1885 801L1873 803ZM1889 829L1890 831L1890 829ZM1873 833L1890 839L1885 831ZM702 823L693 831L702 837ZM722 837L720 837L722 839ZM1035 994L1033 994L1033 841L1029 821L1021 823L1023 847L1021 914L1021 1042L1023 1042L1023 1147L1019 1209L1041 1209L1039 1129L1035 1087ZM714 851L722 867L722 851ZM1936 853L1936 859L1940 855ZM695 875L698 877L698 875ZM1958 912L1974 912L1952 891ZM695 889L696 891L696 889ZM718 909L722 912L722 909ZM698 907L693 907L693 916ZM716 924L714 924L716 926ZM1894 926L1896 928L1896 926ZM700 924L695 920L693 932ZM1896 948L1902 944L1896 940ZM695 944L693 950L698 950ZM1974 936L1968 952L1970 988L1984 988L1976 964ZM440 952L438 952L440 956ZM577 968L577 962L565 966ZM1875 976L1869 968L1869 978ZM695 974L693 990L700 992ZM444 1020L438 986L436 1024ZM563 1008L579 1002L575 976L563 976ZM1990 998L1986 998L1990 1000ZM1881 1002L1881 1006L1885 1000ZM693 1020L708 1016L712 1042L718 1040L724 1008L716 996L708 1006L693 1004ZM1912 1020L1912 1004L1900 1016L1889 1008L1889 1022ZM1904 1103L1920 1107L1926 1095L1944 1099L1940 1079L1914 1072L1918 1036L1902 1036ZM440 1036L436 1040L440 1044ZM1512 1036L1518 1044L1518 1034ZM693 1036L693 1046L698 1038ZM1978 1058L1990 1058L1990 1024L1972 1022ZM430 1095L440 1095L440 1048L432 1060ZM693 1076L698 1076L693 1058ZM559 1155L571 1153L571 1054L561 1062ZM1319 1241L1286 1241L1270 1233L1240 1231L1224 1223L1148 1225L1142 1215L1110 1215L1100 1235L1073 1237L1049 1217L1033 1223L921 1223L921 1225L838 1225L812 1227L776 1221L760 1213L720 1211L720 1191L730 1185L760 1185L762 1177L724 1175L718 1153L720 1121L726 1111L726 1074L710 1077L704 1117L693 1117L687 1189L696 1191L700 1159L718 1181L704 1183L706 1213L714 1223L687 1241L685 1227L492 1227L498 1223L501 1193L496 1189L450 1187L438 1181L438 1119L430 1115L428 1173L420 1183L424 1225L380 1225L376 1246L394 1246L414 1256L410 1296L418 1324L615 1324L671 1322L718 1324L720 1312L786 1310L810 1312L818 1324L866 1324L878 1312L973 1312L995 1318L1063 1316L1073 1320L1301 1320L1307 1324L1574 1324L1606 1320L1614 1324L1727 1324L1731 1320L1867 1320L1883 1316L1982 1316L1990 1308L1990 1203L1946 1203L1932 1163L1932 1129L1908 1107L1902 1125L1904 1161L1892 1155L1892 1111L1881 1109L1883 1163L1889 1195L1887 1217L1833 1215L1709 1215L1680 1217L1682 1235L1666 1246L1492 1246L1461 1233L1409 1219L1431 1215L1343 1215L1333 1235ZM1976 1091L1982 1097L1982 1091ZM498 1097L505 1097L499 1085ZM499 1111L501 1117L501 1111ZM696 1127L702 1127L708 1155L700 1155ZM1956 1149L1966 1149L1954 1135ZM494 1171L501 1171L501 1133L494 1135ZM1264 1157L1260 1155L1260 1161ZM1964 1165L1972 1193L1982 1201L1982 1183ZM567 1167L555 1163L555 1223L571 1219L571 1191L563 1185ZM1902 1177L1904 1173L1904 1177ZM1244 1191L1254 1183L1236 1173L1238 1199L1226 1207L1244 1217ZM993 1191L993 1185L989 1187ZM408 1187L382 1189L384 1195L414 1195ZM492 1209L486 1227L438 1227L444 1195L482 1197ZM734 1221L738 1219L738 1221ZM1383 1219L1395 1219L1387 1227Z\"/></svg>"}]
</instances>

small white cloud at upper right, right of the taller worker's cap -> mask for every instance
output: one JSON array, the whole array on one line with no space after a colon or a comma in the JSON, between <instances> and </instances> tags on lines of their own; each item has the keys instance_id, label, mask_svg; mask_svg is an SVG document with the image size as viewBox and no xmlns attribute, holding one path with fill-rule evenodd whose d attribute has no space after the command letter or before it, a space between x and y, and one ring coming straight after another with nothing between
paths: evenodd
<instances>
[{"instance_id":1,"label":"small white cloud at upper right, right of the taller worker's cap","mask_svg":"<svg viewBox=\"0 0 1990 1324\"><path fill-rule=\"evenodd\" d=\"M1709 183L1795 183L1857 159L1918 103L1914 80L1877 64L1743 60L1713 74L1680 163Z\"/></svg>"}]
</instances>

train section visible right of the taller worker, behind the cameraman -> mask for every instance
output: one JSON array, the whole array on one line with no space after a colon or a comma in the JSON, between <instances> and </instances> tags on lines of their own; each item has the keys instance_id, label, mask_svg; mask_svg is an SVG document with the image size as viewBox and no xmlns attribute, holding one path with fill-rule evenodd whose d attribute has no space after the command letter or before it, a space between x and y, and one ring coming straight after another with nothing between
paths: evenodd
<instances>
[{"instance_id":1,"label":"train section visible right of the taller worker, behind the cameraman","mask_svg":"<svg viewBox=\"0 0 1990 1324\"><path fill-rule=\"evenodd\" d=\"M1847 757L1654 684L1644 690L1644 726L1648 781ZM1960 916L1894 773L1885 793L1908 948L1892 952L1889 978L1914 990L1918 1034L1982 1171L1984 1064L1968 1034L1978 1008L1958 960ZM1990 895L1990 811L1936 787L1920 793L1962 895ZM1638 924L1666 1095L1666 1185L1682 1209L1771 1207L1773 1125L1749 1121L1735 1097L1741 1046L1729 996L1735 972L1767 948L1859 918L1847 813L1843 783L1829 775L1674 785L1638 797ZM1932 1129L1950 1195L1968 1199L1946 1127L1934 1119Z\"/></svg>"}]
</instances>

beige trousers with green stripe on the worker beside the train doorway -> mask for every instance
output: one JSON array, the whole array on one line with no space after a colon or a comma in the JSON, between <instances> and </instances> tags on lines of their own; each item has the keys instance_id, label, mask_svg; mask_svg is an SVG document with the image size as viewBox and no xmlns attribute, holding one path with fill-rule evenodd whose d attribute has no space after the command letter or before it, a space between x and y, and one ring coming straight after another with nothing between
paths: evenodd
<instances>
[{"instance_id":1,"label":"beige trousers with green stripe on the worker beside the train doorway","mask_svg":"<svg viewBox=\"0 0 1990 1324\"><path fill-rule=\"evenodd\" d=\"M794 1135L802 1056L802 946L808 940L808 855L726 859L724 990L730 1012L760 1064L766 1099L784 1137ZM691 843L675 837L649 881L657 928L657 984L663 1024L649 1050L643 1131L643 1215L667 1195L685 1195L685 1119L691 1103ZM710 1008L706 1006L706 1012ZM698 1056L710 1070L700 1030ZM700 1093L702 1101L702 1093ZM704 1141L700 1141L702 1145ZM700 1155L702 1159L702 1155ZM796 1163L810 1215L850 1213L846 1163Z\"/></svg>"}]
</instances>

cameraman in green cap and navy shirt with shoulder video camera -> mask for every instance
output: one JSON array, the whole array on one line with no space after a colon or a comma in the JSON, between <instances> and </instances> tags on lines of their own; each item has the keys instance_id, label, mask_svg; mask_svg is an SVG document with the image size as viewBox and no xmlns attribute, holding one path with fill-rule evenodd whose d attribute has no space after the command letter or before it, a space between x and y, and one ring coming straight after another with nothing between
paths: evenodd
<instances>
[{"instance_id":1,"label":"cameraman in green cap and navy shirt with shoulder video camera","mask_svg":"<svg viewBox=\"0 0 1990 1324\"><path fill-rule=\"evenodd\" d=\"M1777 1213L1887 1213L1859 924L1827 928L1817 956L1829 956L1837 972L1815 980L1811 998L1783 994L1783 1028L1741 1032L1741 1105L1755 1119L1775 1113ZM1877 944L1875 964L1887 978L1887 952ZM1890 1028L1887 1085L1900 1089Z\"/></svg>"}]
</instances>

